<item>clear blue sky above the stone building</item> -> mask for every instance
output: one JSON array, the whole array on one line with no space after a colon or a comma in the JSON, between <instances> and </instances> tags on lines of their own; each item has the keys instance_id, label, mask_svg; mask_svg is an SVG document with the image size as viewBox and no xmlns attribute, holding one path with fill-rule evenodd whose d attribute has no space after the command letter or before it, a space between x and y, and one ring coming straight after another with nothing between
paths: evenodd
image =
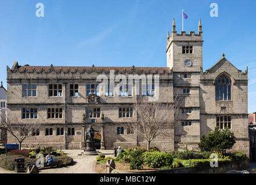
<instances>
[{"instance_id":1,"label":"clear blue sky above the stone building","mask_svg":"<svg viewBox=\"0 0 256 185\"><path fill-rule=\"evenodd\" d=\"M44 16L37 17L37 3ZM210 4L218 4L218 17ZM203 24L203 69L221 54L238 69L248 66L248 112L256 112L256 1L9 0L0 2L0 79L6 65L166 66L166 37L176 21L185 31Z\"/></svg>"}]
</instances>

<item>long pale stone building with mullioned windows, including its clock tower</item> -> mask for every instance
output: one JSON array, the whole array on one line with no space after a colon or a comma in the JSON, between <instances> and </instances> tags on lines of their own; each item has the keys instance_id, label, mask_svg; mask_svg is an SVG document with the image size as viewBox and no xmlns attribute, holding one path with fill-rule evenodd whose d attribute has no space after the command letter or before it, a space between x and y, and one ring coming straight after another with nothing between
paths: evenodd
<instances>
[{"instance_id":1,"label":"long pale stone building with mullioned windows, including its clock tower","mask_svg":"<svg viewBox=\"0 0 256 185\"><path fill-rule=\"evenodd\" d=\"M175 21L167 35L167 67L100 67L100 66L7 66L8 115L18 116L22 123L42 124L37 135L24 140L29 147L43 145L80 149L88 125L99 131L102 149L115 146L146 147L146 140L128 128L136 117L135 86L116 94L108 86L96 95L96 77L106 75L159 75L158 101L182 98L183 121L170 128L167 135L151 143L161 150L199 150L197 143L217 125L235 132L233 150L249 153L247 117L247 69L240 71L222 55L203 72L203 32L201 21L197 34L176 32ZM109 78L110 79L110 78ZM110 82L108 82L110 83ZM116 86L116 84L115 84ZM140 92L143 88L140 86ZM146 86L153 93L154 85ZM147 90L149 90L147 89ZM120 89L121 90L121 89ZM15 142L8 136L8 143Z\"/></svg>"}]
</instances>

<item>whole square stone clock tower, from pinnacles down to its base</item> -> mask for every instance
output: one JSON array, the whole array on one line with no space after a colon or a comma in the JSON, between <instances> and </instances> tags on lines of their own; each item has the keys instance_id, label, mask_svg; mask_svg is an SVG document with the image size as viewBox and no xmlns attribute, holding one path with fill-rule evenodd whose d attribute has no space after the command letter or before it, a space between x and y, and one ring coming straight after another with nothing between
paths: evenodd
<instances>
[{"instance_id":1,"label":"whole square stone clock tower, from pinnacles down to its base","mask_svg":"<svg viewBox=\"0 0 256 185\"><path fill-rule=\"evenodd\" d=\"M182 121L175 127L175 149L193 150L200 142L200 76L203 70L201 20L197 34L177 34L175 21L167 35L167 66L173 72L173 96L181 103ZM192 143L188 145L188 143Z\"/></svg>"}]
</instances>

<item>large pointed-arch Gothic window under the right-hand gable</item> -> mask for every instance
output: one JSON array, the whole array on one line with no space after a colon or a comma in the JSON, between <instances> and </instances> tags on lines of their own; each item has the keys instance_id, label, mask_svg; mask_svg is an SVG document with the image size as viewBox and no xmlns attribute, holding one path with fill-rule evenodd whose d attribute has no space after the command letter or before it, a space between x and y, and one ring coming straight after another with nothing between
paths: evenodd
<instances>
[{"instance_id":1,"label":"large pointed-arch Gothic window under the right-hand gable","mask_svg":"<svg viewBox=\"0 0 256 185\"><path fill-rule=\"evenodd\" d=\"M231 100L231 80L226 75L221 75L215 81L216 101Z\"/></svg>"}]
</instances>

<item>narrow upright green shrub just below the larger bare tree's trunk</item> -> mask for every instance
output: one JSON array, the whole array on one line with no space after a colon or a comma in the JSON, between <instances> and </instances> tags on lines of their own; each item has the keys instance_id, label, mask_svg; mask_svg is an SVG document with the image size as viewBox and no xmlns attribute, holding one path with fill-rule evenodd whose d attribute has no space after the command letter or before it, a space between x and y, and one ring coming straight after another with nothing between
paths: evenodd
<instances>
[{"instance_id":1,"label":"narrow upright green shrub just below the larger bare tree's trunk","mask_svg":"<svg viewBox=\"0 0 256 185\"><path fill-rule=\"evenodd\" d=\"M130 169L142 169L143 164L143 152L142 150L134 150L130 154Z\"/></svg>"}]
</instances>

